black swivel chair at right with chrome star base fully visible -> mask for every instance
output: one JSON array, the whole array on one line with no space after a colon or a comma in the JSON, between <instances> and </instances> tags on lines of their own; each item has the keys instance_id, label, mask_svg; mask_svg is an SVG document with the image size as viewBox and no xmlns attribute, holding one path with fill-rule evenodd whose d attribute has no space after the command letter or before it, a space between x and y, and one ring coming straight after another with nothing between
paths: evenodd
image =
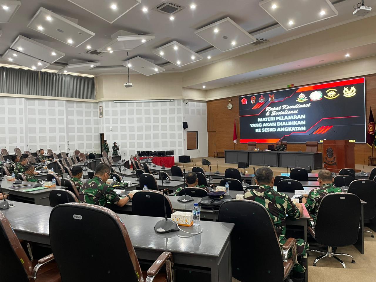
<instances>
[{"instance_id":1,"label":"black swivel chair at right with chrome star base fully visible","mask_svg":"<svg viewBox=\"0 0 376 282\"><path fill-rule=\"evenodd\" d=\"M354 194L331 193L323 197L318 208L315 228L308 227L308 231L318 244L327 246L327 251L309 250L309 252L321 253L321 256L314 260L313 266L316 266L322 258L334 257L342 264L343 268L346 268L344 262L337 256L349 256L352 258L351 262L355 263L351 255L333 253L332 247L355 244L358 240L360 215L360 199Z\"/></svg>"}]
</instances>

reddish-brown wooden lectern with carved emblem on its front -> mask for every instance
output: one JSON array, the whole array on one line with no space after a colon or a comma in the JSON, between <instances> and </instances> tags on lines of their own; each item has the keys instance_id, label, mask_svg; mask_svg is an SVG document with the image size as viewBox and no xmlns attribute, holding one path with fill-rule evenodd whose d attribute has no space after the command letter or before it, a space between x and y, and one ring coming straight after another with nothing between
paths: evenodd
<instances>
[{"instance_id":1,"label":"reddish-brown wooden lectern with carved emblem on its front","mask_svg":"<svg viewBox=\"0 0 376 282\"><path fill-rule=\"evenodd\" d=\"M342 168L355 169L355 143L348 140L324 140L324 168L338 173Z\"/></svg>"}]
</instances>

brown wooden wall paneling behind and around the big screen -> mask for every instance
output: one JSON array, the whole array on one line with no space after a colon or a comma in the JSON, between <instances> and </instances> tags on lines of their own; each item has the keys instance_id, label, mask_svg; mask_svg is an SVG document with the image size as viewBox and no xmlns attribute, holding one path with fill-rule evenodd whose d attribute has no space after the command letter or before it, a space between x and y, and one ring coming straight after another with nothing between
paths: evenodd
<instances>
[{"instance_id":1,"label":"brown wooden wall paneling behind and around the big screen","mask_svg":"<svg viewBox=\"0 0 376 282\"><path fill-rule=\"evenodd\" d=\"M376 74L370 74L365 77L365 109L366 109L366 123L370 114L370 106L372 107L373 117L376 118ZM270 91L277 89L270 89ZM232 101L229 102L229 99ZM227 104L232 103L231 110L227 109ZM239 144L240 129L239 129L239 102L238 96L227 97L223 99L211 100L206 102L207 108L207 122L208 122L208 143L211 144L212 133L215 131L215 142L218 152L224 150L233 150L233 126L234 118L237 125L238 143L235 145L235 150L247 150L247 144ZM309 140L307 140L309 141ZM268 144L258 144L260 150L267 149ZM288 143L288 151L305 151L304 144ZM319 152L323 152L323 145L319 144ZM210 152L210 149L209 149ZM374 149L376 156L376 149ZM367 144L355 144L355 163L363 164L368 162L368 156L371 155L371 148Z\"/></svg>"}]
</instances>

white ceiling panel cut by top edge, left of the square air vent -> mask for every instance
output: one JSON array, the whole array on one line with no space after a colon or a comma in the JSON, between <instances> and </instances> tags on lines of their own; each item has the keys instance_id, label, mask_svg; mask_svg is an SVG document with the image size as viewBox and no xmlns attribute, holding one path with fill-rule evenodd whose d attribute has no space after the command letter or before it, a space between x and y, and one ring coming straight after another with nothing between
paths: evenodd
<instances>
[{"instance_id":1,"label":"white ceiling panel cut by top edge, left of the square air vent","mask_svg":"<svg viewBox=\"0 0 376 282\"><path fill-rule=\"evenodd\" d=\"M141 0L68 0L93 15L113 23L130 9L141 3Z\"/></svg>"}]
</instances>

